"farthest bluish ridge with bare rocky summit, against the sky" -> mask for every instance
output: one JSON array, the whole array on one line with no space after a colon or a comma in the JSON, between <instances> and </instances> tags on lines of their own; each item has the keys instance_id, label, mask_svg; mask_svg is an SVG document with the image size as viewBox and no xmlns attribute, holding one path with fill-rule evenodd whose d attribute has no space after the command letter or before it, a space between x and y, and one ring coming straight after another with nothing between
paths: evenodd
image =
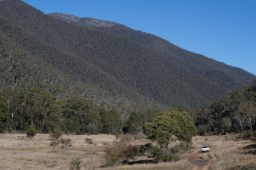
<instances>
[{"instance_id":1,"label":"farthest bluish ridge with bare rocky summit, against the sky","mask_svg":"<svg viewBox=\"0 0 256 170\"><path fill-rule=\"evenodd\" d=\"M214 59L183 50L160 37L138 30L132 30L122 24L93 18L78 18L70 14L51 13L50 16L80 27L102 30L120 37L125 37L128 40L134 40L140 43L141 46L153 49L155 52L167 57L173 63L177 64L177 66L190 70L190 72L215 82L217 85L238 88L248 85L255 78L254 75L248 74L245 70L227 66Z\"/></svg>"}]
</instances>

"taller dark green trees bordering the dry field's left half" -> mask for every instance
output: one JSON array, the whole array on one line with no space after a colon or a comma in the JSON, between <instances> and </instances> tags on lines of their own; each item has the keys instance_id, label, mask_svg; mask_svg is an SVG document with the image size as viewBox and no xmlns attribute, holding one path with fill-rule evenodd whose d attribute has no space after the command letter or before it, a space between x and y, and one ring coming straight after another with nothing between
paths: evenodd
<instances>
[{"instance_id":1,"label":"taller dark green trees bordering the dry field's left half","mask_svg":"<svg viewBox=\"0 0 256 170\"><path fill-rule=\"evenodd\" d=\"M0 94L0 131L28 130L34 123L37 132L49 133L59 127L64 133L121 133L122 114L107 111L84 98L58 100L50 91L31 88L19 93Z\"/></svg>"}]
</instances>

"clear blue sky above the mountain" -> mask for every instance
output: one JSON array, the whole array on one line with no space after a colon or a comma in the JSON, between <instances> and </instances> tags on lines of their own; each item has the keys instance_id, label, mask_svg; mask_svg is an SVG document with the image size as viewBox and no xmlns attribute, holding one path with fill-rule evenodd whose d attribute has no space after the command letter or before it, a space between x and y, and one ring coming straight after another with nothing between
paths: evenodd
<instances>
[{"instance_id":1,"label":"clear blue sky above the mountain","mask_svg":"<svg viewBox=\"0 0 256 170\"><path fill-rule=\"evenodd\" d=\"M256 75L254 0L23 0L61 12L125 24Z\"/></svg>"}]
</instances>

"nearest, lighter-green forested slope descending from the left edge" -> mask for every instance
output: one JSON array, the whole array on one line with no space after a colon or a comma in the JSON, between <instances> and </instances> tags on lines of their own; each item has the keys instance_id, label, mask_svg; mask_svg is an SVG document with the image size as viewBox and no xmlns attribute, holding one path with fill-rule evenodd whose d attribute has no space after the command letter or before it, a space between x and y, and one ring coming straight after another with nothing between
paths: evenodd
<instances>
[{"instance_id":1,"label":"nearest, lighter-green forested slope descending from the left edge","mask_svg":"<svg viewBox=\"0 0 256 170\"><path fill-rule=\"evenodd\" d=\"M142 98L128 88L116 83L116 91L101 88L93 82L80 81L73 76L61 72L59 69L44 62L43 59L33 56L28 50L24 50L11 42L0 31L0 91L28 90L32 86L52 91L60 99L66 100L73 95L79 95L93 100L107 108L117 108L119 111L129 111L129 107L150 107L154 103ZM84 65L86 66L86 65ZM92 69L92 74L97 77L105 76L103 72ZM74 83L75 82L75 83ZM111 81L109 81L111 82ZM121 88L122 96L118 94Z\"/></svg>"}]
</instances>

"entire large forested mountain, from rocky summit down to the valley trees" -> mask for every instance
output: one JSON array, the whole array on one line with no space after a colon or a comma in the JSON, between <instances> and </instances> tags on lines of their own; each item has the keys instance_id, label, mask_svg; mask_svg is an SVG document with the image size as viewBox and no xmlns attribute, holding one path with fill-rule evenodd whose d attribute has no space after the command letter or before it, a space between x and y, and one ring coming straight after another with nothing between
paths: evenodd
<instances>
[{"instance_id":1,"label":"entire large forested mountain, from rocky summit down to the valley trees","mask_svg":"<svg viewBox=\"0 0 256 170\"><path fill-rule=\"evenodd\" d=\"M57 16L67 16L68 23ZM59 98L86 95L127 111L200 107L255 78L151 34L109 21L47 15L19 0L0 2L0 23L6 49L1 91L34 85Z\"/></svg>"}]
</instances>

